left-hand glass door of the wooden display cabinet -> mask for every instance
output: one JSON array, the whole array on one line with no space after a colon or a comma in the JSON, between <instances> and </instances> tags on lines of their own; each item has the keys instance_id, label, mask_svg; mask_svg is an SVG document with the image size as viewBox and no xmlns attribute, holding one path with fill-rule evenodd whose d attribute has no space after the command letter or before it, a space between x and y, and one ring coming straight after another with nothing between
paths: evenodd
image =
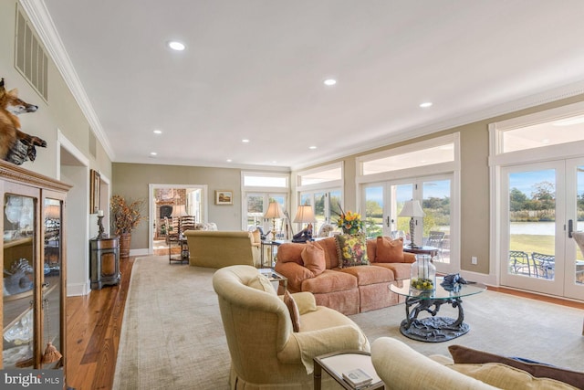
<instances>
[{"instance_id":1,"label":"left-hand glass door of the wooden display cabinet","mask_svg":"<svg viewBox=\"0 0 584 390\"><path fill-rule=\"evenodd\" d=\"M35 364L36 198L4 198L3 367Z\"/></svg>"}]
</instances>

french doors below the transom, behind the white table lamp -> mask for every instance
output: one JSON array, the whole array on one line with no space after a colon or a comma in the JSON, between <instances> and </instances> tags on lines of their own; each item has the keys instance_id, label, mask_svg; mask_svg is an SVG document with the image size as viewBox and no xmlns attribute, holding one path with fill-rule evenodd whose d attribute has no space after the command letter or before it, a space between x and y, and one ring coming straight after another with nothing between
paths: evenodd
<instances>
[{"instance_id":1,"label":"french doors below the transom, behind the white table lamp","mask_svg":"<svg viewBox=\"0 0 584 390\"><path fill-rule=\"evenodd\" d=\"M362 189L365 210L365 228L368 237L404 235L405 242L410 237L410 217L400 216L404 203L417 199L425 216L414 218L414 242L439 248L435 258L436 269L443 273L457 272L458 262L454 262L458 246L452 245L452 237L458 237L456 226L451 223L454 204L452 174L418 177L400 181L364 184ZM430 242L431 232L441 237Z\"/></svg>"}]
</instances>

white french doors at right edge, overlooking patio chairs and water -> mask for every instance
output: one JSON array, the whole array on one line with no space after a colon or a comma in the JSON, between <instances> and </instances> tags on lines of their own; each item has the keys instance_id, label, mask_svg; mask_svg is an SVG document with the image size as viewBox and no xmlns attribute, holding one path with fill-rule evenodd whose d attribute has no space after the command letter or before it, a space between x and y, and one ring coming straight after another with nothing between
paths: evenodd
<instances>
[{"instance_id":1,"label":"white french doors at right edge, overlooking patio chairs and water","mask_svg":"<svg viewBox=\"0 0 584 390\"><path fill-rule=\"evenodd\" d=\"M583 300L584 158L502 167L501 182L501 284Z\"/></svg>"}]
</instances>

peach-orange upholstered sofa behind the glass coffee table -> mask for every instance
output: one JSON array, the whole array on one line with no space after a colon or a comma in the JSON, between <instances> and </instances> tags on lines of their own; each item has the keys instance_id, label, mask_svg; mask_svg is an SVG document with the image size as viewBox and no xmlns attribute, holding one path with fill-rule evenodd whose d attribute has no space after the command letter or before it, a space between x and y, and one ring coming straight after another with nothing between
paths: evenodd
<instances>
[{"instance_id":1,"label":"peach-orange upholstered sofa behind the glass coffee table","mask_svg":"<svg viewBox=\"0 0 584 390\"><path fill-rule=\"evenodd\" d=\"M322 248L324 264L315 264L309 258L307 252L311 246ZM410 278L415 255L403 252L402 238L391 240L389 237L367 240L367 255L370 265L339 268L337 237L307 244L285 243L277 249L275 269L287 277L290 292L312 292L318 305L343 314L399 303L399 296L391 292L389 286ZM342 267L342 262L340 264Z\"/></svg>"}]
</instances>

